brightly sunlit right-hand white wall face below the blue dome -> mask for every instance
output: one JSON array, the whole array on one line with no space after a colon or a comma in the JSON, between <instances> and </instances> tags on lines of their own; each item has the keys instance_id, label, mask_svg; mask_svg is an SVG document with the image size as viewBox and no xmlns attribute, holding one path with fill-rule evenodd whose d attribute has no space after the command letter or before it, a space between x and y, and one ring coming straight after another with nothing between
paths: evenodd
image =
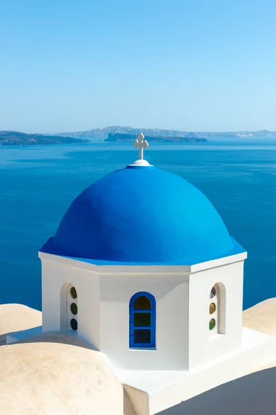
<instances>
[{"instance_id":1,"label":"brightly sunlit right-hand white wall face below the blue dome","mask_svg":"<svg viewBox=\"0 0 276 415\"><path fill-rule=\"evenodd\" d=\"M241 347L243 275L244 261L190 275L189 369ZM213 286L217 293L211 299ZM210 314L212 302L216 311Z\"/></svg>"}]
</instances>

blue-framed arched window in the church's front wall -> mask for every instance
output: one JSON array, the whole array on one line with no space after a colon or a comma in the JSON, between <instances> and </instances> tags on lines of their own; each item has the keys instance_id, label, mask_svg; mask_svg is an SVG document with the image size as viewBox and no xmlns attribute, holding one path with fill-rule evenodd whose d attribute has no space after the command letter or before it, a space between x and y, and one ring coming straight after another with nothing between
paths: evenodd
<instances>
[{"instance_id":1,"label":"blue-framed arched window in the church's front wall","mask_svg":"<svg viewBox=\"0 0 276 415\"><path fill-rule=\"evenodd\" d=\"M132 295L129 319L129 347L133 349L151 349L155 347L155 297L144 292Z\"/></svg>"}]
</instances>

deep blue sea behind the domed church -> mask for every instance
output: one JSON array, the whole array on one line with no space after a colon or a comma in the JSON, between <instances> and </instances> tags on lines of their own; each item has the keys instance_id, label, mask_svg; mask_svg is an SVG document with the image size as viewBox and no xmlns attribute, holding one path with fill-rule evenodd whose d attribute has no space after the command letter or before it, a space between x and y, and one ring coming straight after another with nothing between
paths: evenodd
<instances>
[{"instance_id":1,"label":"deep blue sea behind the domed church","mask_svg":"<svg viewBox=\"0 0 276 415\"><path fill-rule=\"evenodd\" d=\"M146 154L204 192L248 250L244 308L276 297L276 145L151 145ZM0 303L41 309L37 251L79 192L136 158L131 145L0 148Z\"/></svg>"}]
</instances>

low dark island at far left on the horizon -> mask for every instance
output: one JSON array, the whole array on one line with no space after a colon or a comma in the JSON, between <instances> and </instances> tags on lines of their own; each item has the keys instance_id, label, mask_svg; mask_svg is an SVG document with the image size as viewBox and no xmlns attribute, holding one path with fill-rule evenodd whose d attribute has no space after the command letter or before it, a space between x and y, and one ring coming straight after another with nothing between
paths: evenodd
<instances>
[{"instance_id":1,"label":"low dark island at far left on the horizon","mask_svg":"<svg viewBox=\"0 0 276 415\"><path fill-rule=\"evenodd\" d=\"M88 142L72 137L43 136L42 134L26 134L18 131L0 131L0 146L5 145L39 145L39 144L70 144L72 142Z\"/></svg>"}]
</instances>

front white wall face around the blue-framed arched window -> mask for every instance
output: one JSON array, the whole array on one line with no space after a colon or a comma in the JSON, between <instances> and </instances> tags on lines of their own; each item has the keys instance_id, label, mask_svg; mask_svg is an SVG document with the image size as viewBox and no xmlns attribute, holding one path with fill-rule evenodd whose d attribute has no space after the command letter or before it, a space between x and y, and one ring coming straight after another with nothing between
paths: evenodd
<instances>
[{"instance_id":1,"label":"front white wall face around the blue-framed arched window","mask_svg":"<svg viewBox=\"0 0 276 415\"><path fill-rule=\"evenodd\" d=\"M130 349L129 302L146 291L156 299L156 349ZM100 275L101 351L127 369L186 369L188 276L158 273Z\"/></svg>"}]
</instances>

